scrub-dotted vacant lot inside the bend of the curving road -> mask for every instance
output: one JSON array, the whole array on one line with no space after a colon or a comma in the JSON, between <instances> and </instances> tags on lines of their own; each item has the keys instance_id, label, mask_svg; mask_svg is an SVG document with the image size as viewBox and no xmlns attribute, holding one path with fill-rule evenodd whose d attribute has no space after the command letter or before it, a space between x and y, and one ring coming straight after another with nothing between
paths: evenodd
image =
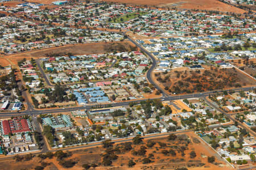
<instances>
[{"instance_id":1,"label":"scrub-dotted vacant lot inside the bend of the curving road","mask_svg":"<svg viewBox=\"0 0 256 170\"><path fill-rule=\"evenodd\" d=\"M204 66L205 69L189 70L187 67L171 70L168 73L155 73L152 76L169 94L189 94L251 86L255 80L235 69L219 69Z\"/></svg>"}]
</instances>

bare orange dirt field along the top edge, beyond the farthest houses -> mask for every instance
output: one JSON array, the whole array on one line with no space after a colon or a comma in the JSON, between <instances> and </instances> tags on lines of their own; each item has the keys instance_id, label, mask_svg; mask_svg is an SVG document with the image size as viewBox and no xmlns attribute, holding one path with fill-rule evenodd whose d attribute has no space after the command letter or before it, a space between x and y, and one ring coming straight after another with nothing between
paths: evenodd
<instances>
[{"instance_id":1,"label":"bare orange dirt field along the top edge, beyond the farthest houses","mask_svg":"<svg viewBox=\"0 0 256 170\"><path fill-rule=\"evenodd\" d=\"M236 12L242 14L245 10L227 5L217 0L104 0L107 2L130 3L136 5L151 5L160 7L177 7L185 9L214 10L223 12Z\"/></svg>"}]
</instances>

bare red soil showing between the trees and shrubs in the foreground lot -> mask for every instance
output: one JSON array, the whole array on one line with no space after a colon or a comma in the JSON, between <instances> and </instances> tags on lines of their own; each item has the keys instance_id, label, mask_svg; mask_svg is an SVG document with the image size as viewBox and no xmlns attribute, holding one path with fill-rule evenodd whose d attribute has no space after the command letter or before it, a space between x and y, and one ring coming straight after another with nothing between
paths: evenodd
<instances>
[{"instance_id":1,"label":"bare red soil showing between the trees and shrubs in the foreground lot","mask_svg":"<svg viewBox=\"0 0 256 170\"><path fill-rule=\"evenodd\" d=\"M188 169L200 169L200 170L212 170L212 169L221 169L221 170L230 170L232 169L228 164L224 162L223 159L220 158L220 156L217 155L216 152L214 152L209 146L205 144L195 133L193 132L184 132L183 136L187 135L189 138L189 141L191 141L188 144L188 149L184 151L185 155L181 156L181 152L176 150L174 146L185 146L185 141L180 141L179 139L176 139L175 141L168 141L167 136L162 138L152 138L152 141L156 142L156 145L151 148L146 148L146 155L145 156L138 156L131 154L131 151L126 151L118 155L118 159L113 161L112 167L97 167L95 169L112 169L112 170L121 170L121 169L174 169L175 167L183 167L184 165L188 164L194 164L195 165L199 163L204 163L203 167L188 167ZM180 136L180 135L178 135ZM160 147L158 142L166 143L166 147ZM143 140L143 143L141 145L132 145L134 150L139 150L141 146L145 146L147 143L147 140ZM115 145L114 145L115 146ZM122 147L122 143L119 143L119 146ZM172 155L163 155L162 150L170 150L170 148L173 148L176 150L176 156ZM63 168L59 161L56 160L56 158L52 159L45 159L40 160L39 158L33 158L32 160L25 161L22 160L22 162L16 162L13 159L9 160L0 160L0 169L3 170L9 170L9 169L33 169L36 166L40 165L41 162L49 163L50 165L47 165L45 169L74 169L74 170L82 170L82 164L88 163L96 163L99 164L102 162L102 154L105 153L105 149L102 147L92 147L92 148L81 148L79 150L70 150L72 152L72 156L70 158L66 158L65 160L75 160L77 163L72 168ZM191 159L189 156L189 153L191 151L196 152L196 158ZM154 162L150 164L142 164L142 159L146 158L148 154L154 155ZM216 158L216 161L218 164L210 164L207 161L207 156L214 156ZM136 162L136 165L133 168L127 167L127 162L132 159L134 162ZM93 168L91 168L93 169Z\"/></svg>"}]
</instances>

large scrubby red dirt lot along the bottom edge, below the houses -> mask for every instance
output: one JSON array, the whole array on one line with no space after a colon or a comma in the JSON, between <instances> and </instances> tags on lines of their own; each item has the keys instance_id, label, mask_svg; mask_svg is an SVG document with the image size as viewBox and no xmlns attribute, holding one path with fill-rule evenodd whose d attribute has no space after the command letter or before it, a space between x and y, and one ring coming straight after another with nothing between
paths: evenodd
<instances>
[{"instance_id":1,"label":"large scrubby red dirt lot along the bottom edge, below the houses","mask_svg":"<svg viewBox=\"0 0 256 170\"><path fill-rule=\"evenodd\" d=\"M208 147L197 135L193 132L187 132L177 135L173 141L168 141L168 137L150 139L151 145L148 145L149 140L143 140L139 145L131 145L132 148L124 143L117 143L113 148L93 147L71 151L68 158L64 161L72 160L75 165L71 168L63 168L60 165L61 160L56 157L51 159L32 158L26 160L24 157L19 162L16 160L0 160L0 169L33 169L36 166L44 166L44 169L83 169L83 164L96 164L98 167L90 169L175 169L177 167L187 167L189 169L232 169L228 164L221 159L216 152ZM146 148L145 148L146 147ZM129 148L127 150L127 148ZM104 155L108 152L113 152L117 155L117 159L113 160L112 165L105 167L102 165ZM143 151L144 150L144 151ZM191 158L191 152L195 155ZM139 153L135 155L135 152ZM105 155L106 156L106 155ZM214 156L215 162L208 163L208 156ZM143 164L143 159L149 158L151 163ZM133 160L135 165L128 167L129 160Z\"/></svg>"}]
</instances>

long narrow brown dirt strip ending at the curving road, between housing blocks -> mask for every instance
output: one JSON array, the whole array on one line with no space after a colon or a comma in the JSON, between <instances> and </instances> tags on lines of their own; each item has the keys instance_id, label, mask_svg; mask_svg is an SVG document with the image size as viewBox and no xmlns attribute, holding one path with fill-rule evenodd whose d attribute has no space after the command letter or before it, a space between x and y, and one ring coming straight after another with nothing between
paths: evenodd
<instances>
[{"instance_id":1,"label":"long narrow brown dirt strip ending at the curving road, between housing blocks","mask_svg":"<svg viewBox=\"0 0 256 170\"><path fill-rule=\"evenodd\" d=\"M47 48L42 50L33 50L30 52L11 54L5 56L5 58L10 59L13 64L17 64L19 60L23 58L42 58L47 55L67 55L71 53L73 55L82 55L82 54L102 54L109 52L125 52L137 50L137 47L131 44L130 41L122 42L100 42L100 43L91 43L91 44L78 44L78 45L65 45L54 48Z\"/></svg>"}]
</instances>

